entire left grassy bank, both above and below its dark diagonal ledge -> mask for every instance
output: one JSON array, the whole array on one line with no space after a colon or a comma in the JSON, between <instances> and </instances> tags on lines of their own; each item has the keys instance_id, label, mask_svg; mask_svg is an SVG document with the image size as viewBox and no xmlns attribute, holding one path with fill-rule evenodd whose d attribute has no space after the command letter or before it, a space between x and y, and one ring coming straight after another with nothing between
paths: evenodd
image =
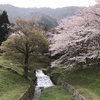
<instances>
[{"instance_id":1,"label":"entire left grassy bank, both above and below its dark diagonal ledge","mask_svg":"<svg viewBox=\"0 0 100 100\"><path fill-rule=\"evenodd\" d=\"M29 76L34 78L31 72ZM0 100L18 100L29 86L30 80L23 76L22 67L0 56Z\"/></svg>"}]
</instances>

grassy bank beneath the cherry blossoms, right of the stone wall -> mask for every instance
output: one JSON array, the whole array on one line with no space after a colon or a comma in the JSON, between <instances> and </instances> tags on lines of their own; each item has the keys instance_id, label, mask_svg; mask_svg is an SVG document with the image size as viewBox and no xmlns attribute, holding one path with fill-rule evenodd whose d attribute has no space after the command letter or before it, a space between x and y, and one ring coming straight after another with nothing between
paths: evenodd
<instances>
[{"instance_id":1,"label":"grassy bank beneath the cherry blossoms, right of the stone wall","mask_svg":"<svg viewBox=\"0 0 100 100\"><path fill-rule=\"evenodd\" d=\"M100 68L55 69L53 72L60 73L58 79L73 85L87 100L100 100Z\"/></svg>"}]
</instances>

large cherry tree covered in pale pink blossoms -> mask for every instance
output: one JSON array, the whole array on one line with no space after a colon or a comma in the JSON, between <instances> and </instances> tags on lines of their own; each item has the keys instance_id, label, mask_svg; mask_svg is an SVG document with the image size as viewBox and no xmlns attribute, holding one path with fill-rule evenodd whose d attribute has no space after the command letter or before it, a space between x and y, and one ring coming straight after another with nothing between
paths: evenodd
<instances>
[{"instance_id":1,"label":"large cherry tree covered in pale pink blossoms","mask_svg":"<svg viewBox=\"0 0 100 100\"><path fill-rule=\"evenodd\" d=\"M50 51L58 56L55 64L74 61L84 65L99 64L100 3L87 7L77 15L63 19L56 28ZM57 34L59 33L59 34Z\"/></svg>"}]
</instances>

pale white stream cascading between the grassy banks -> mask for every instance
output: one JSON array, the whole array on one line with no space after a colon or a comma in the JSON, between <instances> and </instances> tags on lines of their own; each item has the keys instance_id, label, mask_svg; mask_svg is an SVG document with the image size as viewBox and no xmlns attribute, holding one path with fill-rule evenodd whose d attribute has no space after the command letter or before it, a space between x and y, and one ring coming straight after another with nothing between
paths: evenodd
<instances>
[{"instance_id":1,"label":"pale white stream cascading between the grassy banks","mask_svg":"<svg viewBox=\"0 0 100 100\"><path fill-rule=\"evenodd\" d=\"M36 71L37 85L35 87L35 93L32 100L38 100L41 94L41 89L54 86L49 76L45 75L43 71Z\"/></svg>"}]
</instances>

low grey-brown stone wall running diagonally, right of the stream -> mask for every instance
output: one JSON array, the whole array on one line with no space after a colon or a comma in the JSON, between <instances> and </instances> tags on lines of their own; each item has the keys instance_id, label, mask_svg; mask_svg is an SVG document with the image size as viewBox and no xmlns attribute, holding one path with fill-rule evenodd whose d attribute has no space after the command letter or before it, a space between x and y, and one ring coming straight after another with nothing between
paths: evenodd
<instances>
[{"instance_id":1,"label":"low grey-brown stone wall running diagonally, right of the stream","mask_svg":"<svg viewBox=\"0 0 100 100\"><path fill-rule=\"evenodd\" d=\"M76 100L86 100L83 95L81 95L73 86L67 82L59 81L58 83L67 89L75 97Z\"/></svg>"}]
</instances>

